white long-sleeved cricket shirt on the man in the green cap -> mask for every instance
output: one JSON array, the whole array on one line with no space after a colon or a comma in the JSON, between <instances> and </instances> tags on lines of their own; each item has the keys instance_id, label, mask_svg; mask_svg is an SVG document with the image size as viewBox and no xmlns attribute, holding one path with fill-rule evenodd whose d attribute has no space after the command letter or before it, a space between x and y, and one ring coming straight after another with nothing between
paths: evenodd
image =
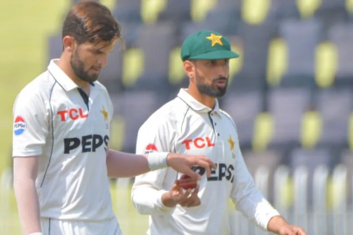
<instances>
[{"instance_id":1,"label":"white long-sleeved cricket shirt on the man in the green cap","mask_svg":"<svg viewBox=\"0 0 353 235\"><path fill-rule=\"evenodd\" d=\"M228 199L266 230L278 212L256 188L244 163L233 120L218 107L202 105L186 90L151 115L138 132L136 152L176 152L205 155L217 164L207 179L203 168L201 205L165 207L163 193L181 176L172 168L136 177L131 199L139 213L150 215L149 235L228 235Z\"/></svg>"}]
</instances>

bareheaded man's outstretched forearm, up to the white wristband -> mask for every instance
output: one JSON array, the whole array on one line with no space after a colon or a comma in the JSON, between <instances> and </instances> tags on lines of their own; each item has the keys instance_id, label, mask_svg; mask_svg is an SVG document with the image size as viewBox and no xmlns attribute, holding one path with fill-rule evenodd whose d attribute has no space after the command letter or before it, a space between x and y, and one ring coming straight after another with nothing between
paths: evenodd
<instances>
[{"instance_id":1,"label":"bareheaded man's outstretched forearm, up to the white wristband","mask_svg":"<svg viewBox=\"0 0 353 235\"><path fill-rule=\"evenodd\" d=\"M129 178L150 171L147 156L108 150L106 165L108 177Z\"/></svg>"}]
</instances>

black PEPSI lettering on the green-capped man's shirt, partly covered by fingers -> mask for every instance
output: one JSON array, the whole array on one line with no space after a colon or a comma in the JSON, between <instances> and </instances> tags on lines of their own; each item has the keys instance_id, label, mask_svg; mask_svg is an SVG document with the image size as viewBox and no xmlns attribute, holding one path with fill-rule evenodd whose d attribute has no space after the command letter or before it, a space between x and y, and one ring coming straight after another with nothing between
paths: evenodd
<instances>
[{"instance_id":1,"label":"black PEPSI lettering on the green-capped man's shirt, partly covered by fingers","mask_svg":"<svg viewBox=\"0 0 353 235\"><path fill-rule=\"evenodd\" d=\"M207 181L222 181L223 179L226 179L227 181L230 181L230 183L233 183L234 166L232 164L224 163L216 164L216 166L217 168L215 170L211 169L211 176L207 178ZM192 170L199 173L201 176L206 172L205 168L201 166L194 166L192 167Z\"/></svg>"}]
</instances>

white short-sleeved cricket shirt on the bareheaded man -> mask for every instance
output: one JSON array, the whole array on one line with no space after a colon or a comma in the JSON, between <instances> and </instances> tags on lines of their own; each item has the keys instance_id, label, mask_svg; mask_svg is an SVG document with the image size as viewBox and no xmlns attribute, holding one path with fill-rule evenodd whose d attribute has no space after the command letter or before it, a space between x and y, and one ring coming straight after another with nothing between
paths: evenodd
<instances>
[{"instance_id":1,"label":"white short-sleeved cricket shirt on the bareheaded man","mask_svg":"<svg viewBox=\"0 0 353 235\"><path fill-rule=\"evenodd\" d=\"M18 94L13 156L40 155L41 217L98 221L114 217L106 169L113 107L99 82L87 97L52 60Z\"/></svg>"}]
</instances>

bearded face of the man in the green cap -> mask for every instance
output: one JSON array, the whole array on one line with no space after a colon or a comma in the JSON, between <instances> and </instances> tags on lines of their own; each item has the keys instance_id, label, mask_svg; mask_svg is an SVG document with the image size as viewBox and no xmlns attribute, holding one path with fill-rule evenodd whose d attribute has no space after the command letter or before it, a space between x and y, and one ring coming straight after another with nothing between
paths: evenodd
<instances>
[{"instance_id":1,"label":"bearded face of the man in the green cap","mask_svg":"<svg viewBox=\"0 0 353 235\"><path fill-rule=\"evenodd\" d=\"M195 83L201 94L222 97L226 94L229 78L229 60L198 60L195 65Z\"/></svg>"}]
</instances>

